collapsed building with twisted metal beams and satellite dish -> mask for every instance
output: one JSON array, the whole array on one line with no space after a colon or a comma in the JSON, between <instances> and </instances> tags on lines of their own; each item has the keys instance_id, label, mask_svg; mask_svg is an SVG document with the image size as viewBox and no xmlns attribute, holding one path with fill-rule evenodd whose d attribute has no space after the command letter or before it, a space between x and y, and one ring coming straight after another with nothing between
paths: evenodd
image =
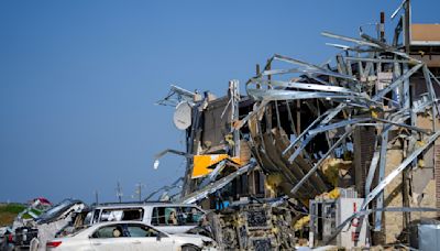
<instances>
[{"instance_id":1,"label":"collapsed building with twisted metal beams and satellite dish","mask_svg":"<svg viewBox=\"0 0 440 251\"><path fill-rule=\"evenodd\" d=\"M377 37L322 33L351 44L329 44L333 64L274 55L245 95L231 80L221 98L172 86L158 102L176 106L186 151L156 157L186 157L178 200L218 210L221 247L292 248L295 225L310 247L421 243L440 211L440 25L399 11L391 43L382 13Z\"/></svg>"}]
</instances>

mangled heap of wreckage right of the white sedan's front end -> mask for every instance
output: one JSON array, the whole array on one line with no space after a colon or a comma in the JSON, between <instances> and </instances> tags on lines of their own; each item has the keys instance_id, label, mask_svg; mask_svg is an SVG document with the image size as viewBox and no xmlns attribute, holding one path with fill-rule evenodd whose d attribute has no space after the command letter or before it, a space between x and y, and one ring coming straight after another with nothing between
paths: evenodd
<instances>
[{"instance_id":1,"label":"mangled heap of wreckage right of the white sedan's front end","mask_svg":"<svg viewBox=\"0 0 440 251\"><path fill-rule=\"evenodd\" d=\"M293 250L295 231L287 203L245 204L212 214L213 236L220 247L235 250Z\"/></svg>"}]
</instances>

